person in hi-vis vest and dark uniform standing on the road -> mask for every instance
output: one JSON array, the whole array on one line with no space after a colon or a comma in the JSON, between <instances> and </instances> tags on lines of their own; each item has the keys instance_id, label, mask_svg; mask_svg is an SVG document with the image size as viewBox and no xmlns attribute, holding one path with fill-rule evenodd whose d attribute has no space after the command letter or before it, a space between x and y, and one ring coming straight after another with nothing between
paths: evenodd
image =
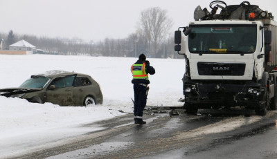
<instances>
[{"instance_id":1,"label":"person in hi-vis vest and dark uniform standing on the road","mask_svg":"<svg viewBox=\"0 0 277 159\"><path fill-rule=\"evenodd\" d=\"M146 61L144 54L139 55L139 60L131 66L134 84L134 124L146 124L143 121L143 109L148 95L148 73L154 75L155 69Z\"/></svg>"}]
</instances>

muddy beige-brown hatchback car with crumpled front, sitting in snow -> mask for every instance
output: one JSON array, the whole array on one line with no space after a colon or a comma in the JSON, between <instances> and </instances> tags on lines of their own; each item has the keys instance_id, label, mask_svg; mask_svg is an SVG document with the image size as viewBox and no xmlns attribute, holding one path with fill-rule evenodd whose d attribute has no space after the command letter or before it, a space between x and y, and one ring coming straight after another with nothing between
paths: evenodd
<instances>
[{"instance_id":1,"label":"muddy beige-brown hatchback car with crumpled front, sitting in snow","mask_svg":"<svg viewBox=\"0 0 277 159\"><path fill-rule=\"evenodd\" d=\"M29 102L51 102L60 106L87 106L102 104L100 85L89 75L47 71L32 75L18 88L0 89L0 95L20 97Z\"/></svg>"}]
</instances>

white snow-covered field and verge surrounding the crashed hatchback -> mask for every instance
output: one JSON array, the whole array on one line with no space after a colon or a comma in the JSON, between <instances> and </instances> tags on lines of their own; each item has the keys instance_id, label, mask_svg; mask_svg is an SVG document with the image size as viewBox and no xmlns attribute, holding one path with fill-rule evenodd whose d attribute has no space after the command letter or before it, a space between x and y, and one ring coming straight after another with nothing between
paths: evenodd
<instances>
[{"instance_id":1,"label":"white snow-covered field and verge surrounding the crashed hatchback","mask_svg":"<svg viewBox=\"0 0 277 159\"><path fill-rule=\"evenodd\" d=\"M61 55L0 55L0 88L17 87L37 73L51 70L91 75L100 84L104 102L97 106L34 104L0 96L0 158L17 149L35 147L45 140L102 129L80 129L78 125L132 113L134 96L130 66L138 58ZM181 78L184 59L148 59L156 69L150 75L148 106L182 106ZM120 112L125 113L120 113ZM32 142L33 141L33 142ZM34 143L35 142L35 143ZM15 146L16 145L16 146ZM25 149L24 151L28 151Z\"/></svg>"}]
</instances>

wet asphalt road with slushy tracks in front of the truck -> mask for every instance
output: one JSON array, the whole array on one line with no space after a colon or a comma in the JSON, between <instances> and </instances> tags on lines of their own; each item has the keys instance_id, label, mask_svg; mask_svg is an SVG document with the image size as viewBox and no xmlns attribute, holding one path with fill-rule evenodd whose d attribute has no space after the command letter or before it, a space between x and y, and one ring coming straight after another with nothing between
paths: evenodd
<instances>
[{"instance_id":1,"label":"wet asphalt road with slushy tracks in front of the truck","mask_svg":"<svg viewBox=\"0 0 277 159\"><path fill-rule=\"evenodd\" d=\"M261 117L243 110L145 111L82 125L103 127L55 141L52 147L15 158L277 158L277 111Z\"/></svg>"}]
</instances>

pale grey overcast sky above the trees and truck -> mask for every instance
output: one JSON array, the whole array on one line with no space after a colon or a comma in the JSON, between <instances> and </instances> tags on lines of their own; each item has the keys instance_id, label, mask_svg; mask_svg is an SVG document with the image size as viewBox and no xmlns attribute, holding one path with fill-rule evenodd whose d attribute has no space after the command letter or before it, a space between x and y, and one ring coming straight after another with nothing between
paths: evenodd
<instances>
[{"instance_id":1,"label":"pale grey overcast sky above the trees and truck","mask_svg":"<svg viewBox=\"0 0 277 159\"><path fill-rule=\"evenodd\" d=\"M237 5L243 0L226 0ZM277 19L276 0L250 0ZM78 37L86 41L123 39L135 32L142 10L168 10L173 19L172 35L193 20L197 6L207 8L211 0L0 0L0 32L46 37Z\"/></svg>"}]
</instances>

